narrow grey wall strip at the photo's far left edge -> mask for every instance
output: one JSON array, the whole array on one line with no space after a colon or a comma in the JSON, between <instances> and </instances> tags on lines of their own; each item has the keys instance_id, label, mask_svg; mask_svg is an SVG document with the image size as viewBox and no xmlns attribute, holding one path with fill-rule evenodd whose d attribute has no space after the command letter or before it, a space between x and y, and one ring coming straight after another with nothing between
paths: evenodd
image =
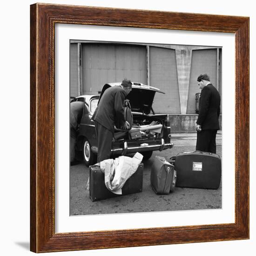
<instances>
[{"instance_id":1,"label":"narrow grey wall strip at the photo's far left edge","mask_svg":"<svg viewBox=\"0 0 256 256\"><path fill-rule=\"evenodd\" d=\"M78 96L77 43L70 44L70 96Z\"/></svg>"}]
</instances>

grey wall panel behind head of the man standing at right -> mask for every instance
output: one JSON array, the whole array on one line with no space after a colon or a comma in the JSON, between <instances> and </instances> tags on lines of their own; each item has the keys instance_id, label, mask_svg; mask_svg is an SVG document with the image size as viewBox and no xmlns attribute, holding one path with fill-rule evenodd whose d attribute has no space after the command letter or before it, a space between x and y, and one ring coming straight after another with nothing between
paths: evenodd
<instances>
[{"instance_id":1,"label":"grey wall panel behind head of the man standing at right","mask_svg":"<svg viewBox=\"0 0 256 256\"><path fill-rule=\"evenodd\" d=\"M189 97L187 114L195 114L195 94L200 93L197 77L208 74L211 83L216 87L217 49L193 50L189 80Z\"/></svg>"}]
</instances>

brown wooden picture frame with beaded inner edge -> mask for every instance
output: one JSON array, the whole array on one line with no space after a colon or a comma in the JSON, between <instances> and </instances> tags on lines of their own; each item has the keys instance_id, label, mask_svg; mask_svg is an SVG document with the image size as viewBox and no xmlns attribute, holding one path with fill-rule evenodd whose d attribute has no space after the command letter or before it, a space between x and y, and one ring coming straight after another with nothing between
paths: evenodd
<instances>
[{"instance_id":1,"label":"brown wooden picture frame with beaded inner edge","mask_svg":"<svg viewBox=\"0 0 256 256\"><path fill-rule=\"evenodd\" d=\"M235 34L235 222L166 228L55 233L54 25L161 28ZM31 5L30 248L34 252L249 238L249 18L102 7Z\"/></svg>"}]
</instances>

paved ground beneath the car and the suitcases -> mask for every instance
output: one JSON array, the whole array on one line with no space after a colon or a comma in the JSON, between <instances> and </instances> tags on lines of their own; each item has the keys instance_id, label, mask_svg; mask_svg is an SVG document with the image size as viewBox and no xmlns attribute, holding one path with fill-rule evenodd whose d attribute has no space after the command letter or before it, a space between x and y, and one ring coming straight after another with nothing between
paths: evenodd
<instances>
[{"instance_id":1,"label":"paved ground beneath the car and the suitcases","mask_svg":"<svg viewBox=\"0 0 256 256\"><path fill-rule=\"evenodd\" d=\"M70 168L70 215L113 214L130 212L152 212L192 209L222 208L222 186L219 189L175 188L169 195L156 195L150 186L150 169L155 155L166 159L180 152L195 150L195 133L173 133L174 148L155 151L148 161L143 161L143 187L141 193L92 202L86 183L88 168L83 164ZM217 154L222 155L221 132L218 132Z\"/></svg>"}]
</instances>

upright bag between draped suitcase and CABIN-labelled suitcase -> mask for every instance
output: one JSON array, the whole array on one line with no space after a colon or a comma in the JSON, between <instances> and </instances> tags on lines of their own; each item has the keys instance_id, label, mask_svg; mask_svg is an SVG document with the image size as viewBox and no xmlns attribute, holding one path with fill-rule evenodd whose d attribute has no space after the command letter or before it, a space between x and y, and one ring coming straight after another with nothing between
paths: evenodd
<instances>
[{"instance_id":1,"label":"upright bag between draped suitcase and CABIN-labelled suitcase","mask_svg":"<svg viewBox=\"0 0 256 256\"><path fill-rule=\"evenodd\" d=\"M150 174L150 183L156 194L169 194L175 189L176 171L162 156L155 156Z\"/></svg>"}]
</instances>

